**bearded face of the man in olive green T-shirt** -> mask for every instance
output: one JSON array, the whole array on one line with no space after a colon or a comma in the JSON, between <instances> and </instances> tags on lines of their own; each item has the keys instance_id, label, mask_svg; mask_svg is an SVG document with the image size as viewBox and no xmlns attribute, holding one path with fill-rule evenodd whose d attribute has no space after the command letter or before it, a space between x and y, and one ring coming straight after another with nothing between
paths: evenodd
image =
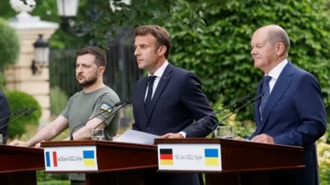
<instances>
[{"instance_id":1,"label":"bearded face of the man in olive green T-shirt","mask_svg":"<svg viewBox=\"0 0 330 185\"><path fill-rule=\"evenodd\" d=\"M98 79L98 66L96 66L94 60L95 56L89 53L77 58L76 79L83 88L95 84Z\"/></svg>"}]
</instances>

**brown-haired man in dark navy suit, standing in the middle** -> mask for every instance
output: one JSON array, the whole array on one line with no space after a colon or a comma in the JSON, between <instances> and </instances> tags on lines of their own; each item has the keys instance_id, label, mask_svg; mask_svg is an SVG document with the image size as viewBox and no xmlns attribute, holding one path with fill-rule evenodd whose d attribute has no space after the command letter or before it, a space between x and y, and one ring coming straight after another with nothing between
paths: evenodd
<instances>
[{"instance_id":1,"label":"brown-haired man in dark navy suit, standing in the middle","mask_svg":"<svg viewBox=\"0 0 330 185\"><path fill-rule=\"evenodd\" d=\"M206 95L195 73L168 62L171 38L157 25L135 29L135 56L139 69L148 71L135 83L133 130L162 136L162 138L203 138L217 123L209 116L189 127L193 121L212 114ZM148 184L198 185L197 174L151 173ZM153 182L155 180L155 182Z\"/></svg>"}]
</instances>

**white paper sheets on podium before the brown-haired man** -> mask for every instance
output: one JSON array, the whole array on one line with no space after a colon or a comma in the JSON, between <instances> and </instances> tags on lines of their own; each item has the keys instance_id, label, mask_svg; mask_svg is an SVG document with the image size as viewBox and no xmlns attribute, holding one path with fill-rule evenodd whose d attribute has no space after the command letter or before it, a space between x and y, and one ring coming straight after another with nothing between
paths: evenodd
<instances>
[{"instance_id":1,"label":"white paper sheets on podium before the brown-haired man","mask_svg":"<svg viewBox=\"0 0 330 185\"><path fill-rule=\"evenodd\" d=\"M113 141L153 145L155 138L159 138L159 136L136 130L127 130Z\"/></svg>"}]
</instances>

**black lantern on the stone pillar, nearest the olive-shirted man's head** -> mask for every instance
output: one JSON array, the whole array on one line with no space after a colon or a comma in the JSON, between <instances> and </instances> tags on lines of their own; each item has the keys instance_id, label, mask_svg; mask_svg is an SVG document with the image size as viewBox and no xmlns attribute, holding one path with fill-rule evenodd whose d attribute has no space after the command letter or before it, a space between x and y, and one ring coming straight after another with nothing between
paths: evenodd
<instances>
[{"instance_id":1,"label":"black lantern on the stone pillar, nearest the olive-shirted man's head","mask_svg":"<svg viewBox=\"0 0 330 185\"><path fill-rule=\"evenodd\" d=\"M39 38L33 44L36 51L35 58L32 60L31 70L33 75L40 75L43 67L48 64L50 58L50 44L39 34Z\"/></svg>"}]
</instances>

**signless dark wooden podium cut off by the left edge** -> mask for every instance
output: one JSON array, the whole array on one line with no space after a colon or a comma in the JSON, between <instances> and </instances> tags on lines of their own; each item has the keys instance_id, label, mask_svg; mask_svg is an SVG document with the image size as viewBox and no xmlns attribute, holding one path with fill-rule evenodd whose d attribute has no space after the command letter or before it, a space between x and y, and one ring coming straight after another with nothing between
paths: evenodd
<instances>
[{"instance_id":1,"label":"signless dark wooden podium cut off by the left edge","mask_svg":"<svg viewBox=\"0 0 330 185\"><path fill-rule=\"evenodd\" d=\"M36 171L45 169L43 149L0 145L0 184L36 185Z\"/></svg>"}]
</instances>

